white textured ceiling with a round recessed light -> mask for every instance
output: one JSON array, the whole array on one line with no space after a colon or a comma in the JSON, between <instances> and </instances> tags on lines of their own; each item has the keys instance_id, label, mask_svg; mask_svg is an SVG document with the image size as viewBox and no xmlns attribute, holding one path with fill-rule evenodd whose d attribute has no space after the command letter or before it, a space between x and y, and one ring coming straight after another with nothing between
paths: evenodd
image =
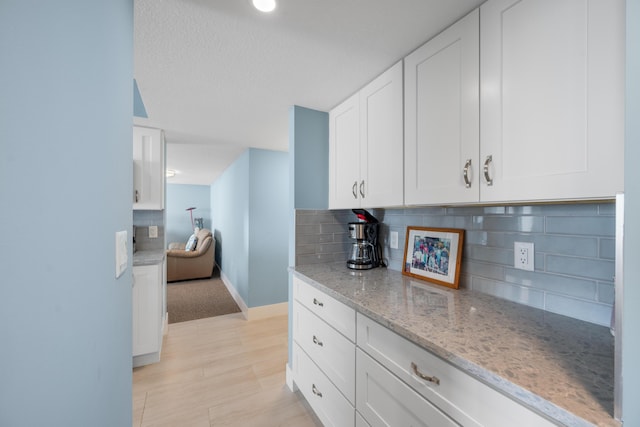
<instances>
[{"instance_id":1,"label":"white textured ceiling with a round recessed light","mask_svg":"<svg viewBox=\"0 0 640 427\"><path fill-rule=\"evenodd\" d=\"M134 0L134 78L165 130L167 182L287 151L290 106L329 111L484 0L277 1Z\"/></svg>"}]
</instances>

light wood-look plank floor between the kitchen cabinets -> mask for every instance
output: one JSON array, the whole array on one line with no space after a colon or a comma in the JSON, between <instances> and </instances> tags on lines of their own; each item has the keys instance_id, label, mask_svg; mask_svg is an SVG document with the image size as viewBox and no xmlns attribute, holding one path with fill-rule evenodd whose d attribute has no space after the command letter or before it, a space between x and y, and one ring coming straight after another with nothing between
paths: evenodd
<instances>
[{"instance_id":1,"label":"light wood-look plank floor between the kitchen cabinets","mask_svg":"<svg viewBox=\"0 0 640 427\"><path fill-rule=\"evenodd\" d=\"M133 426L321 426L285 384L287 344L287 316L169 325L161 361L133 370Z\"/></svg>"}]
</instances>

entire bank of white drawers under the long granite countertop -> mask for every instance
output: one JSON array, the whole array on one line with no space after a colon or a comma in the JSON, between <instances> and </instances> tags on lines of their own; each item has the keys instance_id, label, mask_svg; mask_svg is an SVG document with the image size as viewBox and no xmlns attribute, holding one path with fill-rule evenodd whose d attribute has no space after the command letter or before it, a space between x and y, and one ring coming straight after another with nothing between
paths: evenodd
<instances>
[{"instance_id":1,"label":"entire bank of white drawers under the long granite countertop","mask_svg":"<svg viewBox=\"0 0 640 427\"><path fill-rule=\"evenodd\" d=\"M320 289L293 283L293 378L325 426L554 425Z\"/></svg>"}]
</instances>

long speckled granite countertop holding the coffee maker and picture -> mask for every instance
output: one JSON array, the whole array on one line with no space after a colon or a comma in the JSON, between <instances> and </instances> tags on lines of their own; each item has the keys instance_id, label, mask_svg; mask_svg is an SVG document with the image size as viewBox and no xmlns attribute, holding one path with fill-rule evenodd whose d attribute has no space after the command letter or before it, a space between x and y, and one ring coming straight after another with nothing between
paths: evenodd
<instances>
[{"instance_id":1,"label":"long speckled granite countertop holding the coffee maker and picture","mask_svg":"<svg viewBox=\"0 0 640 427\"><path fill-rule=\"evenodd\" d=\"M559 425L621 425L609 328L385 268L293 272Z\"/></svg>"}]
</instances>

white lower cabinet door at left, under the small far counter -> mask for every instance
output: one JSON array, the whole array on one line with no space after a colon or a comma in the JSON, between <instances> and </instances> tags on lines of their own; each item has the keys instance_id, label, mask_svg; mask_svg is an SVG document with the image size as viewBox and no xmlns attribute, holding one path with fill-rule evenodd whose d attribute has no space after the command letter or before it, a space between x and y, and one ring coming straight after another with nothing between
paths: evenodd
<instances>
[{"instance_id":1,"label":"white lower cabinet door at left, under the small far counter","mask_svg":"<svg viewBox=\"0 0 640 427\"><path fill-rule=\"evenodd\" d=\"M160 351L160 268L159 264L133 267L133 356Z\"/></svg>"}]
</instances>

